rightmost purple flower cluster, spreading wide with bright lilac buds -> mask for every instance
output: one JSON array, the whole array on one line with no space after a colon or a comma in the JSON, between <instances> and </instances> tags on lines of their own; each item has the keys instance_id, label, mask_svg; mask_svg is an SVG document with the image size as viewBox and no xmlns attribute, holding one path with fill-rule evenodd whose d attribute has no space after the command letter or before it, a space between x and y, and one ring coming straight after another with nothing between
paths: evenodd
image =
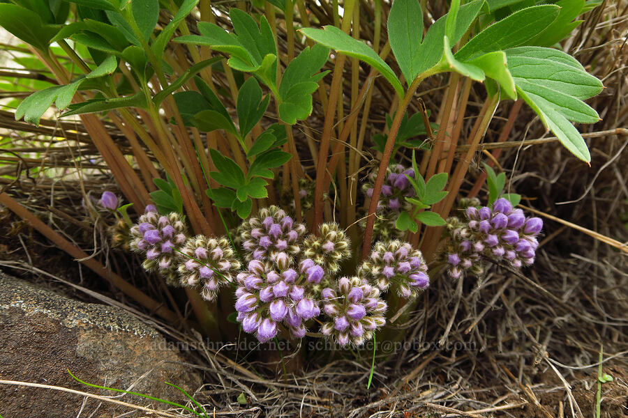
<instances>
[{"instance_id":1,"label":"rightmost purple flower cluster, spreading wide with bright lilac buds","mask_svg":"<svg viewBox=\"0 0 628 418\"><path fill-rule=\"evenodd\" d=\"M498 199L493 208L470 206L466 222L450 219L451 240L444 251L449 275L457 279L465 272L477 274L480 258L505 261L514 268L534 263L539 246L537 235L543 227L538 217L525 217L507 199Z\"/></svg>"}]
</instances>

